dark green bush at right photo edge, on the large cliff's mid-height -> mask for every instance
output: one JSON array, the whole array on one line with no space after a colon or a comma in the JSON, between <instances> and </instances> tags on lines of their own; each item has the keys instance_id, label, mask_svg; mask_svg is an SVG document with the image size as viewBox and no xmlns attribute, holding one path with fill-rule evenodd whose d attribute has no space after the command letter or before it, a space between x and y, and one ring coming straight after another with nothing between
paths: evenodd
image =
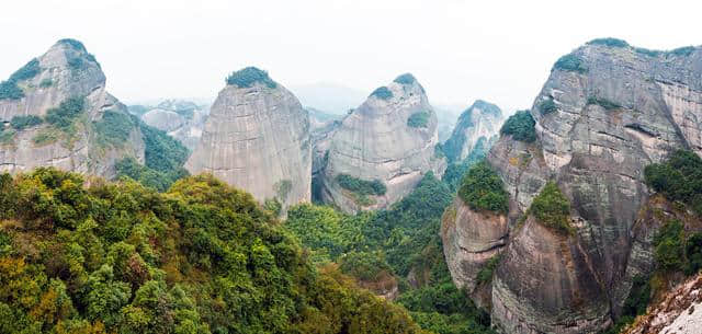
<instances>
[{"instance_id":1,"label":"dark green bush at right photo edge, on the large cliff's mid-height","mask_svg":"<svg viewBox=\"0 0 702 334\"><path fill-rule=\"evenodd\" d=\"M657 193L690 205L702 215L702 159L694 152L677 150L666 162L647 165L644 177Z\"/></svg>"}]
</instances>

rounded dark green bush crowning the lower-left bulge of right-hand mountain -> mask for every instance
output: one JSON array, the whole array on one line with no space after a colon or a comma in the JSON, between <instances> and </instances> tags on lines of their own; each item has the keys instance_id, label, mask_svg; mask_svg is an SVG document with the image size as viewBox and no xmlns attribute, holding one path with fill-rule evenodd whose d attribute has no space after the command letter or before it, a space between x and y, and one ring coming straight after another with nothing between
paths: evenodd
<instances>
[{"instance_id":1,"label":"rounded dark green bush crowning the lower-left bulge of right-hand mountain","mask_svg":"<svg viewBox=\"0 0 702 334\"><path fill-rule=\"evenodd\" d=\"M502 180L485 161L473 165L463 176L458 196L474 210L506 214L508 209Z\"/></svg>"}]
</instances>

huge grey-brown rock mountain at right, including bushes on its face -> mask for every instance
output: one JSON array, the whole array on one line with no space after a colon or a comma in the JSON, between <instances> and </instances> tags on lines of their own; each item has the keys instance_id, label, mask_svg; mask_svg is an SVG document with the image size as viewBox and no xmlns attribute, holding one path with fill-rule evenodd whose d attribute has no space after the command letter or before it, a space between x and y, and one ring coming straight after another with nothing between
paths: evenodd
<instances>
[{"instance_id":1,"label":"huge grey-brown rock mountain at right, including bushes on its face","mask_svg":"<svg viewBox=\"0 0 702 334\"><path fill-rule=\"evenodd\" d=\"M610 326L634 277L656 266L652 238L665 220L644 217L656 204L644 170L679 149L702 153L701 112L700 47L601 38L559 58L444 216L456 285L505 333ZM484 268L490 279L475 279Z\"/></svg>"}]
</instances>

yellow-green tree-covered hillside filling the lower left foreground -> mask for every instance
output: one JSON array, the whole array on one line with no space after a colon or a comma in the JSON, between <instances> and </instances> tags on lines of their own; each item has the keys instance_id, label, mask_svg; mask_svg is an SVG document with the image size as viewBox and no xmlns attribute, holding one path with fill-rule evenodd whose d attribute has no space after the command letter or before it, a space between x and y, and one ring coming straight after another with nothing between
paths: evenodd
<instances>
[{"instance_id":1,"label":"yellow-green tree-covered hillside filling the lower left foreground","mask_svg":"<svg viewBox=\"0 0 702 334\"><path fill-rule=\"evenodd\" d=\"M210 175L166 194L54 169L0 177L0 330L420 333L333 266L316 269L253 197Z\"/></svg>"}]
</instances>

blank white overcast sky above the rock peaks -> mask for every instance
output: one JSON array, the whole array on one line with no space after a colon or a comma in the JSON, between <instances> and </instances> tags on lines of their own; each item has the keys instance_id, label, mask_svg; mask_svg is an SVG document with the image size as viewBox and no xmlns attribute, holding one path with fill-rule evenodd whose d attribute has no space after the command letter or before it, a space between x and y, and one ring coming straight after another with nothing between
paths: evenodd
<instances>
[{"instance_id":1,"label":"blank white overcast sky above the rock peaks","mask_svg":"<svg viewBox=\"0 0 702 334\"><path fill-rule=\"evenodd\" d=\"M56 41L95 55L126 103L214 99L247 66L288 87L370 93L411 72L434 105L530 107L555 60L596 37L702 44L701 1L3 1L0 78ZM293 92L295 90L293 89Z\"/></svg>"}]
</instances>

